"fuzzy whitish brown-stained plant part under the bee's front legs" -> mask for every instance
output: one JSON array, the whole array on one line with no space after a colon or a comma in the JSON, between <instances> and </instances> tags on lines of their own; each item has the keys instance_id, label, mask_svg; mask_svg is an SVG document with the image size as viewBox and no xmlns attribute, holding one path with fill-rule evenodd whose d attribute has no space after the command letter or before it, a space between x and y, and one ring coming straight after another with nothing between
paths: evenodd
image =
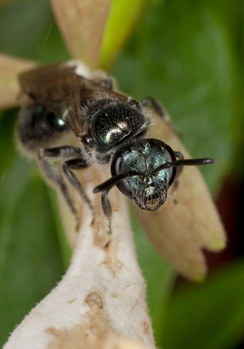
<instances>
[{"instance_id":1,"label":"fuzzy whitish brown-stained plant part under the bee's front legs","mask_svg":"<svg viewBox=\"0 0 244 349\"><path fill-rule=\"evenodd\" d=\"M111 190L113 235L107 244L101 195L92 190L110 177L109 170L88 168L76 174L95 207L95 222L88 205L70 187L80 214L71 266L58 286L15 329L4 349L100 349L112 334L154 348L126 199L116 188ZM64 210L68 210L66 204ZM111 348L123 346L111 344Z\"/></svg>"}]
</instances>

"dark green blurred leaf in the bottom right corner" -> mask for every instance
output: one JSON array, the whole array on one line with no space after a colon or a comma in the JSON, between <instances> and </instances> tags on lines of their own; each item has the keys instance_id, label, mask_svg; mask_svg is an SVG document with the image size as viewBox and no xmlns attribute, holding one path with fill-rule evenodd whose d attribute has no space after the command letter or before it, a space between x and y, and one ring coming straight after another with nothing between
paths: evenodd
<instances>
[{"instance_id":1,"label":"dark green blurred leaf in the bottom right corner","mask_svg":"<svg viewBox=\"0 0 244 349\"><path fill-rule=\"evenodd\" d=\"M201 286L176 292L168 304L160 346L232 349L243 338L244 260Z\"/></svg>"}]
</instances>

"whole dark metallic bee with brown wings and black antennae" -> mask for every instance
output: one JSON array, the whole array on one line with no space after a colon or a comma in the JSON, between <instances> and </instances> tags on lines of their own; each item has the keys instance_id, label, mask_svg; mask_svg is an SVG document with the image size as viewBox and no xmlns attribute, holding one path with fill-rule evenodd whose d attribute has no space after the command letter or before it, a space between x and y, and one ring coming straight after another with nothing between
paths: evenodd
<instances>
[{"instance_id":1,"label":"whole dark metallic bee with brown wings and black antennae","mask_svg":"<svg viewBox=\"0 0 244 349\"><path fill-rule=\"evenodd\" d=\"M146 106L151 104L164 117L160 105L152 98L139 103L115 92L109 77L89 80L77 75L74 66L56 64L24 72L19 81L28 101L19 114L17 138L38 157L43 173L59 185L74 214L64 178L79 191L94 214L73 170L94 164L110 166L111 178L94 189L102 191L109 233L112 213L107 195L112 186L116 185L138 207L156 210L164 203L169 186L183 166L214 163L213 159L184 160L180 152L174 152L164 142L146 138L151 124ZM67 132L75 134L80 147L62 144L53 148L52 141L62 139ZM48 158L67 158L63 173Z\"/></svg>"}]
</instances>

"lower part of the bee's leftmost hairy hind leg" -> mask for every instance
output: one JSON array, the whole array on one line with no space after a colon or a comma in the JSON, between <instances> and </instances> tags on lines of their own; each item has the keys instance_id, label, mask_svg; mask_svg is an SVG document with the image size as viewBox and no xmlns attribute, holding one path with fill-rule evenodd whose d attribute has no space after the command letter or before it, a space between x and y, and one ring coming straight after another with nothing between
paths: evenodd
<instances>
[{"instance_id":1,"label":"lower part of the bee's leftmost hairy hind leg","mask_svg":"<svg viewBox=\"0 0 244 349\"><path fill-rule=\"evenodd\" d=\"M71 211L75 215L76 221L78 222L78 215L77 211L75 209L75 206L73 204L72 198L70 196L70 193L68 191L67 186L64 183L64 180L61 176L61 174L57 171L57 169L52 166L45 158L44 158L44 149L40 149L39 151L39 165L40 168L45 175L47 179L49 179L54 184L57 184L60 187L60 190L62 191L66 202L68 206L70 207Z\"/></svg>"}]
</instances>

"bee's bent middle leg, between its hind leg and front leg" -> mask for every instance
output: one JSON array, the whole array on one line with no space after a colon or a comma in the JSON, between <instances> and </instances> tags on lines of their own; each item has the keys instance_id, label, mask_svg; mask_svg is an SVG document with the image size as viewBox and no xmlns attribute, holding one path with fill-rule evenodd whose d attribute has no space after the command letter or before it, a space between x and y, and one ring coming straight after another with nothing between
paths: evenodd
<instances>
[{"instance_id":1,"label":"bee's bent middle leg, between its hind leg and front leg","mask_svg":"<svg viewBox=\"0 0 244 349\"><path fill-rule=\"evenodd\" d=\"M82 197L83 201L87 203L92 211L93 214L93 220L92 223L94 222L95 219L95 210L93 205L91 204L91 201L89 200L88 196L86 195L85 191L82 188L81 183L79 180L76 178L76 176L70 171L70 170L80 170L84 169L85 167L88 167L88 164L86 163L85 160L83 159L71 159L63 163L63 172L70 182L72 186L78 190L80 196Z\"/></svg>"}]
</instances>

